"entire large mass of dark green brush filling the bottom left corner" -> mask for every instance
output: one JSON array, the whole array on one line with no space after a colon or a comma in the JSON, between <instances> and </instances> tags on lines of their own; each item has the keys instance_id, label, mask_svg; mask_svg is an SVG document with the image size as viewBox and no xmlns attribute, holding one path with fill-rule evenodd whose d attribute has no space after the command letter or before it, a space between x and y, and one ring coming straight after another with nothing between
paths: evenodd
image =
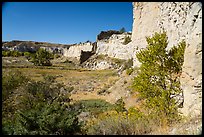
<instances>
[{"instance_id":1,"label":"entire large mass of dark green brush filling the bottom left corner","mask_svg":"<svg viewBox=\"0 0 204 137\"><path fill-rule=\"evenodd\" d=\"M69 91L57 83L55 77L45 75L44 81L29 80L13 87L18 88L3 101L3 134L69 135L81 132L77 118L80 111L70 104Z\"/></svg>"}]
</instances>

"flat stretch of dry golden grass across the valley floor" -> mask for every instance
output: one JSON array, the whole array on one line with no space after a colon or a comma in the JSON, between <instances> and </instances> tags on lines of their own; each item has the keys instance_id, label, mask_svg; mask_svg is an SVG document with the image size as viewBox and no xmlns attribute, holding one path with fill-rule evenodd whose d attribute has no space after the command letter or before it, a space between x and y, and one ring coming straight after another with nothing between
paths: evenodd
<instances>
[{"instance_id":1,"label":"flat stretch of dry golden grass across the valley floor","mask_svg":"<svg viewBox=\"0 0 204 137\"><path fill-rule=\"evenodd\" d=\"M68 86L74 86L75 90L85 91L84 85L89 86L93 84L93 92L76 92L71 95L73 100L81 99L104 99L107 97L98 95L96 91L102 89L104 85L110 86L114 84L118 77L114 74L113 70L61 70L61 69L40 69L40 68L3 68L6 70L19 70L32 80L43 80L43 74L58 76L57 81L64 83Z\"/></svg>"}]
</instances>

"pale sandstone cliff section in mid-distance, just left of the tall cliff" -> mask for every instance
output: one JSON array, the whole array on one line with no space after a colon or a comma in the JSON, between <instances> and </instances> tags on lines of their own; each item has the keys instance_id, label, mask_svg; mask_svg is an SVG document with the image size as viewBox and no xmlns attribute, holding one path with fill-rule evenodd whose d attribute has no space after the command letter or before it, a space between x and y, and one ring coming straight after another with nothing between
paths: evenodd
<instances>
[{"instance_id":1,"label":"pale sandstone cliff section in mid-distance, just left of the tall cliff","mask_svg":"<svg viewBox=\"0 0 204 137\"><path fill-rule=\"evenodd\" d=\"M109 57L119 59L131 59L133 55L133 46L124 45L125 37L131 37L130 34L113 34L109 39L99 40L97 42L96 54L108 55Z\"/></svg>"}]
</instances>

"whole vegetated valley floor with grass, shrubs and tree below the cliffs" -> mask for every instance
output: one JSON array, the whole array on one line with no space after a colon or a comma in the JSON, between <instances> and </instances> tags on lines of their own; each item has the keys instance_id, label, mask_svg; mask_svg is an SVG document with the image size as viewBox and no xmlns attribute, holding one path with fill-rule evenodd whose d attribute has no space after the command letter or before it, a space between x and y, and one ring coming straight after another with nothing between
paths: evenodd
<instances>
[{"instance_id":1,"label":"whole vegetated valley floor with grass, shrubs and tree below the cliffs","mask_svg":"<svg viewBox=\"0 0 204 137\"><path fill-rule=\"evenodd\" d=\"M170 134L184 119L178 113L182 103L171 96L182 93L178 79L186 43L167 51L165 32L146 40L147 48L136 54L140 68L129 66L129 60L122 63L122 74L88 70L63 58L58 62L43 50L33 56L37 64L25 56L4 57L3 134ZM121 93L127 90L131 94Z\"/></svg>"}]
</instances>

